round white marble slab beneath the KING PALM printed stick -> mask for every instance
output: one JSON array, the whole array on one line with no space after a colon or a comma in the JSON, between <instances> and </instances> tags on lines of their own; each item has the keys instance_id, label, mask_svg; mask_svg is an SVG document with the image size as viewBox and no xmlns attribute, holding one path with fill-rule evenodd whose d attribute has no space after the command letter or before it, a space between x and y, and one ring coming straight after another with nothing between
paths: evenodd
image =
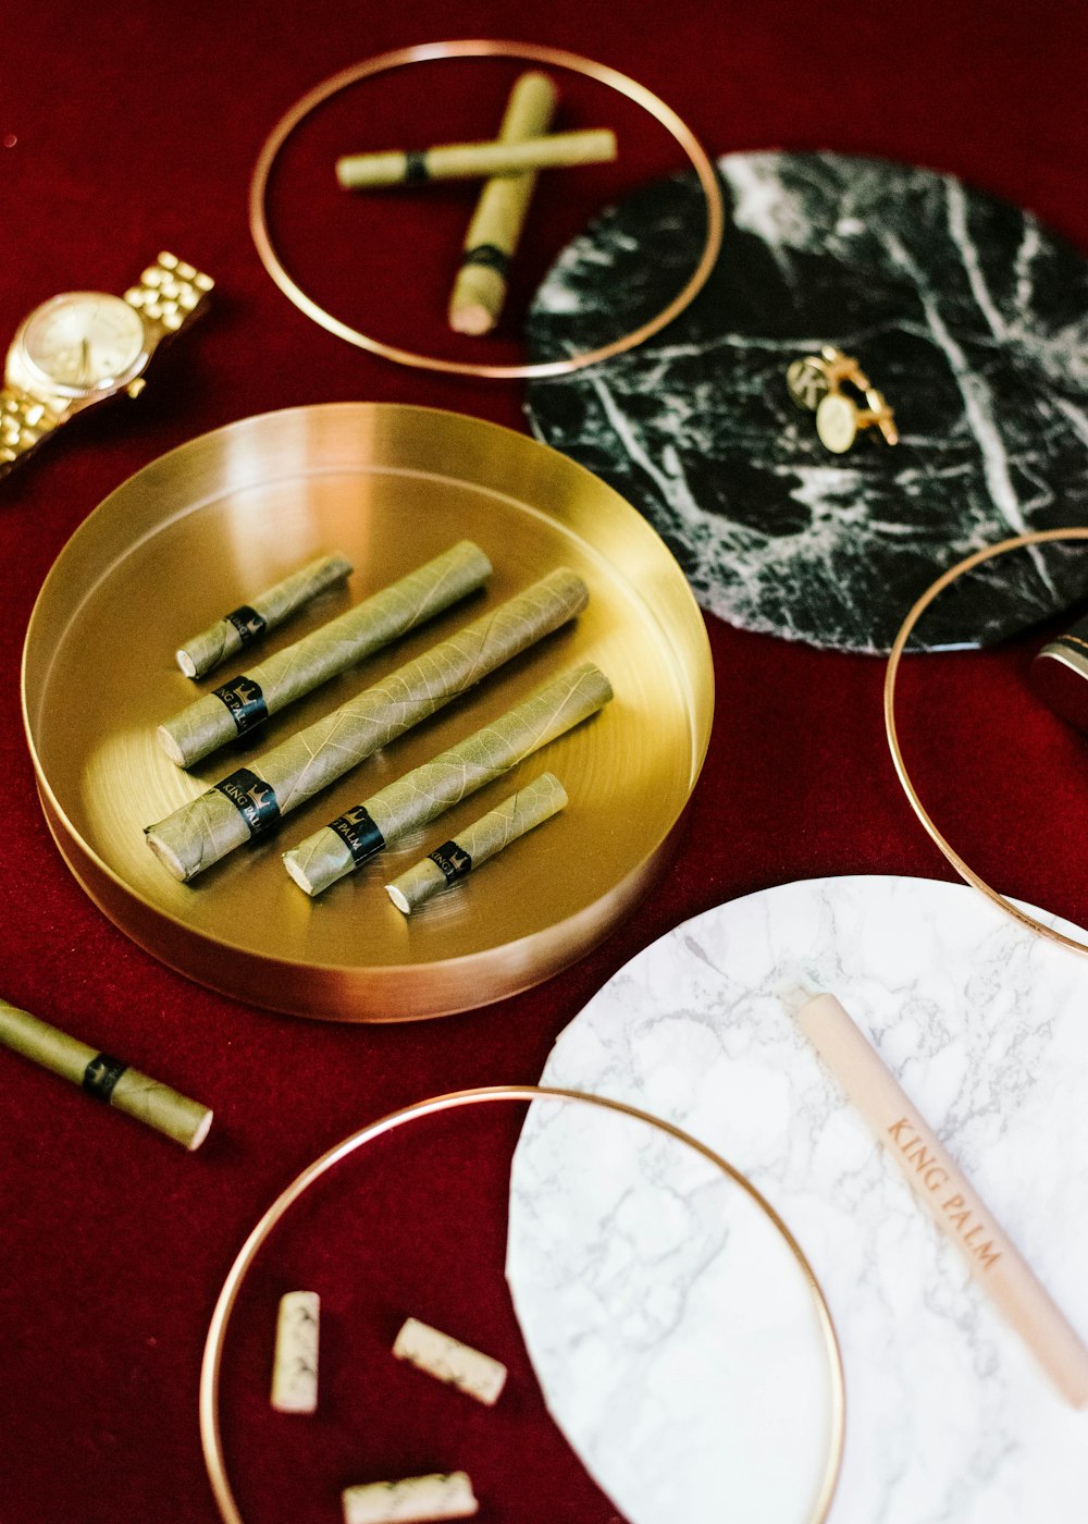
<instances>
[{"instance_id":1,"label":"round white marble slab beneath the KING PALM printed stick","mask_svg":"<svg viewBox=\"0 0 1088 1524\"><path fill-rule=\"evenodd\" d=\"M798 981L841 998L1088 1338L1088 965L966 887L814 879L707 911L599 992L541 1082L677 1123L744 1170L795 1233L846 1367L830 1524L1080 1524L1088 1413L1056 1396L794 1030L776 992ZM600 1256L616 1256L617 1207L628 1241L654 1227L631 1216L654 1202L629 1189L634 1148L611 1160L616 1193L597 1195L593 1221L584 1190L564 1216L556 1187L591 1160L578 1129L541 1125L527 1125L514 1160L507 1279L552 1414L629 1524L803 1524L800 1498L791 1516L777 1492L733 1498L728 1515L712 1497L713 1434L724 1442L733 1398L730 1372L704 1358L706 1326L689 1317L698 1254L661 1262L655 1294L670 1315L655 1327L654 1384L637 1341L603 1312L594 1358L582 1358L584 1305ZM546 1209L541 1183L553 1187ZM785 1471L812 1443L788 1433L791 1419ZM709 1460L696 1500L631 1484L681 1474L692 1426Z\"/></svg>"}]
</instances>

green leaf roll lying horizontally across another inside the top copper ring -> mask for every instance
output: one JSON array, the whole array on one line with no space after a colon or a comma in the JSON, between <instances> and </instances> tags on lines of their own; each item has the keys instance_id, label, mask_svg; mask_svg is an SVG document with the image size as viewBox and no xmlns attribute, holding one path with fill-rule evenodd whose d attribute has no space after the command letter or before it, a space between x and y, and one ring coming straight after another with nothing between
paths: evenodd
<instances>
[{"instance_id":1,"label":"green leaf roll lying horizontally across another inside the top copper ring","mask_svg":"<svg viewBox=\"0 0 1088 1524\"><path fill-rule=\"evenodd\" d=\"M616 133L594 126L581 133L550 133L520 143L440 143L419 152L347 154L337 160L344 190L424 184L427 180L482 180L520 175L526 169L573 169L616 158Z\"/></svg>"}]
</instances>

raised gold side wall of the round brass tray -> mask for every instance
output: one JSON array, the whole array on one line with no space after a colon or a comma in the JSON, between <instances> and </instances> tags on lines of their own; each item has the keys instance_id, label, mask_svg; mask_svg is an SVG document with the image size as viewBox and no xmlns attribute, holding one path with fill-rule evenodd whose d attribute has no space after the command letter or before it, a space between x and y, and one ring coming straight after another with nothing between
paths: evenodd
<instances>
[{"instance_id":1,"label":"raised gold side wall of the round brass tray","mask_svg":"<svg viewBox=\"0 0 1088 1524\"><path fill-rule=\"evenodd\" d=\"M213 463L221 462L224 445L230 457L230 442L245 434L259 436L264 430L273 430L277 447L288 451L288 459L283 465L291 474L312 475L335 469L350 471L360 469L363 463L358 454L358 440L354 440L355 448L346 451L343 459L323 459L320 466L311 469L306 469L305 465L300 466L297 460L291 462L290 453L303 440L309 440L314 430L320 431L325 422L332 425L341 422L344 418L350 418L360 427L366 425L369 428L370 442L373 443L373 439L381 437L386 425L401 422L405 415L410 415L421 425L427 424L434 431L436 439L431 443L437 447L439 456L442 454L440 437L448 430L457 434L468 425L471 430L478 430L482 436L488 431L503 436L507 450L523 453L524 462L529 466L529 475L533 477L533 486L544 497L550 495L555 500L552 504L533 501L533 511L562 523L571 533L582 538L588 549L605 559L608 559L605 549L591 532L582 530L579 514L570 512L570 509L578 507L578 503L567 501L567 495L562 492L556 494L555 489L550 494L546 491L549 486L555 488L556 477L565 475L568 480L588 479L593 485L593 494L599 498L603 495L603 501L611 503L616 517L623 521L625 536L640 539L652 550L655 558L666 555L672 559L657 532L614 488L610 488L591 471L587 471L567 456L559 454L552 447L535 440L529 434L520 434L503 425L442 408L399 402L329 402L254 415L235 424L227 424L177 447L128 477L104 498L61 549L43 582L27 623L21 664L23 724L46 823L61 850L61 856L79 885L114 925L169 968L221 994L290 1015L343 1021L413 1021L427 1017L453 1015L454 1012L491 1004L495 1000L529 989L550 978L562 968L570 966L570 963L588 952L597 942L603 940L620 917L649 890L654 876L670 852L710 742L715 700L710 643L695 597L684 582L683 572L674 562L675 579L678 585L683 584L684 597L681 599L681 617L674 619L678 628L666 634L669 646L678 658L678 664L689 675L693 669L698 669L698 683L693 684L696 690L692 692L692 701L687 706L690 724L690 782L687 794L681 809L643 860L605 895L585 905L576 914L553 922L550 927L533 931L515 942L482 948L433 963L357 966L302 963L268 959L262 954L241 949L235 943L209 934L206 930L194 931L187 928L183 920L148 902L110 864L98 856L93 847L82 840L78 828L69 820L52 789L35 744L34 716L30 713L30 689L37 686L40 692L52 668L52 652L38 651L35 639L40 626L50 613L50 604L59 597L55 576L59 562L64 561L67 581L73 581L75 578L81 590L85 584L79 581L79 572L84 575L93 572L93 585L96 585L98 581L108 575L110 565L117 564L145 536L160 532L174 518L197 511L204 501L219 497L224 492L259 488L262 483L280 480L283 471L277 471L276 460L271 460L267 453L261 454L262 465L258 471L238 469L232 474L230 469L224 471L219 466L212 472L206 471L206 475L201 477L201 468L206 469L207 459ZM253 454L250 451L248 459L253 459ZM535 475L532 471L533 465L547 457L552 457L553 465L550 482L547 477ZM194 468L187 474L187 480L194 485L186 491L184 500L178 503L175 512L163 512L160 498L168 480L177 477L180 460ZM373 463L378 463L376 456L373 457ZM443 469L437 460L431 466L421 463L416 469L428 471L434 475L450 475L448 469ZM469 479L457 477L456 480L468 482ZM142 488L142 512L130 512L122 529L120 523L111 523L110 507L119 494L131 495L134 483L139 483ZM485 491L500 492L506 497L510 495L509 482L489 483L471 479L471 485ZM520 506L526 506L521 500L518 501ZM105 546L105 555L102 555L102 544L99 541ZM628 576L628 585L635 588L660 625L658 611L645 597L643 590L634 578ZM67 628L67 623L76 617L78 610L79 600L69 608L67 619L62 620L62 628ZM683 626L683 631L680 626ZM686 636L689 645L686 657L677 651L674 640L674 636L681 632ZM59 643L58 639L53 645ZM396 1015L389 1013L390 1004L398 1007Z\"/></svg>"}]
</instances>

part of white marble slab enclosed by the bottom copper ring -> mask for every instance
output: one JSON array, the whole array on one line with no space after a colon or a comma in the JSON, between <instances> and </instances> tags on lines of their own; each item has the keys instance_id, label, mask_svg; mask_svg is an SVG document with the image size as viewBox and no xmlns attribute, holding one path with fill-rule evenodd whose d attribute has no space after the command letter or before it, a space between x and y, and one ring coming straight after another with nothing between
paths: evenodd
<instances>
[{"instance_id":1,"label":"part of white marble slab enclosed by the bottom copper ring","mask_svg":"<svg viewBox=\"0 0 1088 1524\"><path fill-rule=\"evenodd\" d=\"M515 1192L530 1227L510 1234L507 1279L533 1366L616 1506L751 1524L759 1498L762 1524L809 1519L834 1367L770 1215L689 1143L570 1102L530 1109Z\"/></svg>"}]
</instances>

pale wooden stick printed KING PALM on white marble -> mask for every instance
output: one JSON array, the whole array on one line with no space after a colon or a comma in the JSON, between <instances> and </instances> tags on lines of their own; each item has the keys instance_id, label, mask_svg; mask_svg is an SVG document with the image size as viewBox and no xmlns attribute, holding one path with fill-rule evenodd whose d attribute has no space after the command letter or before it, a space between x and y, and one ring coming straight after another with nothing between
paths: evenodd
<instances>
[{"instance_id":1,"label":"pale wooden stick printed KING PALM on white marble","mask_svg":"<svg viewBox=\"0 0 1088 1524\"><path fill-rule=\"evenodd\" d=\"M1080 1335L919 1117L872 1044L834 995L808 1001L797 1012L797 1024L1067 1402L1086 1407L1088 1349Z\"/></svg>"}]
</instances>

